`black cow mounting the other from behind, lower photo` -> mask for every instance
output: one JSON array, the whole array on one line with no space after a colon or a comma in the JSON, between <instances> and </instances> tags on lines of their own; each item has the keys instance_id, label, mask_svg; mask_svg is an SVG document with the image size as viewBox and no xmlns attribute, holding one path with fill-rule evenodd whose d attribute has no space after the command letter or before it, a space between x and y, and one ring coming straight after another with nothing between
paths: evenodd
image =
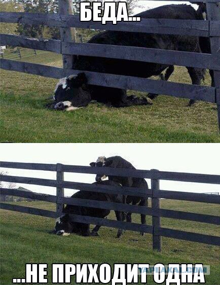
<instances>
[{"instance_id":1,"label":"black cow mounting the other from behind, lower photo","mask_svg":"<svg viewBox=\"0 0 220 285\"><path fill-rule=\"evenodd\" d=\"M128 162L121 156L113 156L109 158L100 156L98 157L96 162L91 162L90 166L135 169L135 167L130 162ZM103 174L96 175L96 181L102 181L106 177L108 177L108 179L111 181L120 183L124 187L135 187L135 188L140 188L140 189L148 189L148 183L146 183L146 181L143 178L106 175L104 174L104 169L103 169ZM126 201L124 202L126 202L127 204L132 203L132 205L136 205L139 203L140 206L148 206L148 198L143 198L143 197L136 197L136 196L128 195L126 196ZM146 215L141 214L140 216L141 216L141 224L146 224ZM131 222L131 213L127 213L127 222Z\"/></svg>"}]
</instances>

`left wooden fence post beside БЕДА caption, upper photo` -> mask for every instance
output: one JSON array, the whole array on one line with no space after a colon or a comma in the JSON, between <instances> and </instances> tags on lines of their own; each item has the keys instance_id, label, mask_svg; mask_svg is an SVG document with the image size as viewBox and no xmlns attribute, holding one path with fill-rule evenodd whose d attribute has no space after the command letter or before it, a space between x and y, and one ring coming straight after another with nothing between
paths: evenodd
<instances>
[{"instance_id":1,"label":"left wooden fence post beside \u0411\u0415\u0414\u0410 caption, upper photo","mask_svg":"<svg viewBox=\"0 0 220 285\"><path fill-rule=\"evenodd\" d=\"M59 14L72 15L73 7L72 0L59 0ZM60 40L62 42L76 42L76 29L70 27L60 28ZM61 43L62 44L62 43ZM63 68L72 69L72 63L74 56L69 54L62 54L63 57Z\"/></svg>"}]
</instances>

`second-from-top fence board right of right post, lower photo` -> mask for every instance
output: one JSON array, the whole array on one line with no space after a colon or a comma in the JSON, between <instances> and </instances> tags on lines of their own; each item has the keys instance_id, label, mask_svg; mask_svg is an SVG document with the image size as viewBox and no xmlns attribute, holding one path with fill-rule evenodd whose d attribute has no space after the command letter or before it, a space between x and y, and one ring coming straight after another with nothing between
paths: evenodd
<instances>
[{"instance_id":1,"label":"second-from-top fence board right of right post, lower photo","mask_svg":"<svg viewBox=\"0 0 220 285\"><path fill-rule=\"evenodd\" d=\"M159 191L154 191L154 197L155 198L166 198L166 199L174 199L174 200L185 200L185 201L220 204L220 196L219 195L193 193L193 192L159 190Z\"/></svg>"}]
</instances>

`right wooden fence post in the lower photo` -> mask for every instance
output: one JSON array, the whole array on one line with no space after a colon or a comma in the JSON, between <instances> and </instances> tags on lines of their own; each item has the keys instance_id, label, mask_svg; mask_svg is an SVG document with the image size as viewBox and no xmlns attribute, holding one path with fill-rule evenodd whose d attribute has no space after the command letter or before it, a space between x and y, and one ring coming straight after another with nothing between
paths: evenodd
<instances>
[{"instance_id":1,"label":"right wooden fence post in the lower photo","mask_svg":"<svg viewBox=\"0 0 220 285\"><path fill-rule=\"evenodd\" d=\"M152 209L153 211L157 211L160 209L160 198L154 198L155 191L160 190L160 181L155 175L159 172L158 169L151 169L151 172L154 174L154 178L151 179L151 189L153 192L152 195ZM162 248L162 237L160 235L155 234L155 228L161 227L161 217L152 216L152 226L153 226L153 250L157 250L161 252Z\"/></svg>"}]
</instances>

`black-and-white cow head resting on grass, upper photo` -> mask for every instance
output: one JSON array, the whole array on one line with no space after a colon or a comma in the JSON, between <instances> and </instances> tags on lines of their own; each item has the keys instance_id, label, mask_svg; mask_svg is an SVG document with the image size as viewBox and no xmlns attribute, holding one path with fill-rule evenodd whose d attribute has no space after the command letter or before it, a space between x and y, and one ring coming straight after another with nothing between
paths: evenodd
<instances>
[{"instance_id":1,"label":"black-and-white cow head resting on grass, upper photo","mask_svg":"<svg viewBox=\"0 0 220 285\"><path fill-rule=\"evenodd\" d=\"M85 73L61 78L54 90L52 109L73 111L86 106L90 98Z\"/></svg>"}]
</instances>

